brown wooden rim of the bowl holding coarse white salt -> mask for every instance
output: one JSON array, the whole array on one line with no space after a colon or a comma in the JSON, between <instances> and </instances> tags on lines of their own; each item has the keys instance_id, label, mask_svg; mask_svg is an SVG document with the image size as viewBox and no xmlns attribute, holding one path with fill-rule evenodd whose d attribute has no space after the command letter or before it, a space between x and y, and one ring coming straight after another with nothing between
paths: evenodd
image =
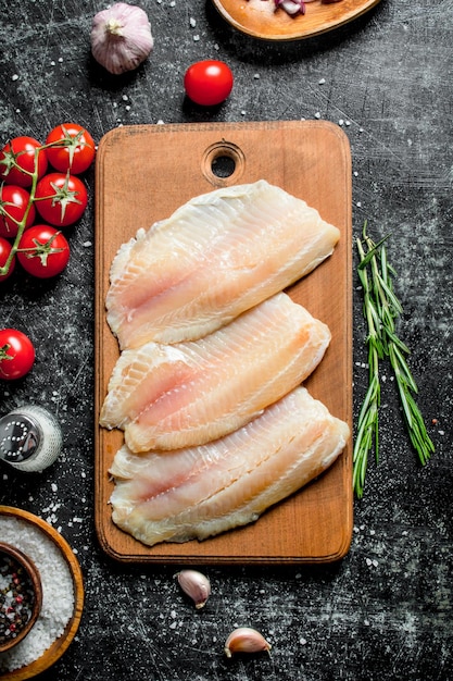
<instances>
[{"instance_id":1,"label":"brown wooden rim of the bowl holding coarse white salt","mask_svg":"<svg viewBox=\"0 0 453 681\"><path fill-rule=\"evenodd\" d=\"M84 580L79 562L74 555L72 547L68 545L66 540L54 528L52 528L52 525L38 516L11 506L0 506L0 516L12 516L40 530L42 534L50 538L59 548L73 578L74 611L63 634L33 663L12 671L0 672L1 681L24 681L25 679L32 679L46 669L49 669L49 667L51 667L63 655L76 635L84 608Z\"/></svg>"}]
</instances>

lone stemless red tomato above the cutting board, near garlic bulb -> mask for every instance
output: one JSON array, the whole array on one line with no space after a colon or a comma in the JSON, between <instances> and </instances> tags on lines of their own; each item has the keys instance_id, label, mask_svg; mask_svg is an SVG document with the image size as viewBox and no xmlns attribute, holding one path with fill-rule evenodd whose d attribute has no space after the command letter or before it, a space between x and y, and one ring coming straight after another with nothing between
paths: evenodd
<instances>
[{"instance_id":1,"label":"lone stemless red tomato above the cutting board, near garlic bulb","mask_svg":"<svg viewBox=\"0 0 453 681\"><path fill-rule=\"evenodd\" d=\"M223 102L232 89L232 73L225 62L206 60L189 66L184 76L187 96L197 104Z\"/></svg>"}]
</instances>

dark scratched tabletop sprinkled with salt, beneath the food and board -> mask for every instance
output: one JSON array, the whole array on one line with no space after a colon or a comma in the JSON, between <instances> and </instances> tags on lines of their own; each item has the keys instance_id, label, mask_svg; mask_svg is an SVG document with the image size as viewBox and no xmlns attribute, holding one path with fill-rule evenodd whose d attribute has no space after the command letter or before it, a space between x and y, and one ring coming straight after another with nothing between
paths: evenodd
<instances>
[{"instance_id":1,"label":"dark scratched tabletop sprinkled with salt, beneath the food and board","mask_svg":"<svg viewBox=\"0 0 453 681\"><path fill-rule=\"evenodd\" d=\"M345 2L348 0L344 0ZM313 567L210 567L213 596L194 614L174 568L112 562L93 524L93 171L90 205L71 232L58 280L14 275L1 287L1 326L35 340L38 359L0 386L1 413L34 401L64 430L60 460L40 475L0 469L0 503L48 520L85 578L81 623L42 681L411 679L450 680L452 624L452 78L450 2L382 0L317 38L267 44L230 28L210 1L143 0L155 37L138 71L111 77L90 57L87 0L1 3L0 138L42 139L68 120L97 141L125 124L322 119L344 129L353 159L353 228L364 220L389 258L404 307L418 404L436 445L421 468L403 428L395 386L382 377L380 462L355 502L349 554ZM200 59L231 66L216 110L185 101L183 75ZM335 169L332 169L335 172ZM355 258L355 256L354 256ZM355 263L356 264L356 263ZM354 416L367 369L354 273ZM387 379L387 381L386 381ZM238 624L261 630L272 656L228 661Z\"/></svg>"}]
</instances>

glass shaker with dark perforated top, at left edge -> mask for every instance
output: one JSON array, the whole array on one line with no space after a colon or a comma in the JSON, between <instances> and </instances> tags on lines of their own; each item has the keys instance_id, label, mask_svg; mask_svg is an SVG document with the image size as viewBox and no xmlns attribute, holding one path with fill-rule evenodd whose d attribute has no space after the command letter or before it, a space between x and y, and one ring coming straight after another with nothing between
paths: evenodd
<instances>
[{"instance_id":1,"label":"glass shaker with dark perforated top, at left edge","mask_svg":"<svg viewBox=\"0 0 453 681\"><path fill-rule=\"evenodd\" d=\"M55 417L26 405L0 419L0 459L26 472L40 472L59 457L63 444Z\"/></svg>"}]
</instances>

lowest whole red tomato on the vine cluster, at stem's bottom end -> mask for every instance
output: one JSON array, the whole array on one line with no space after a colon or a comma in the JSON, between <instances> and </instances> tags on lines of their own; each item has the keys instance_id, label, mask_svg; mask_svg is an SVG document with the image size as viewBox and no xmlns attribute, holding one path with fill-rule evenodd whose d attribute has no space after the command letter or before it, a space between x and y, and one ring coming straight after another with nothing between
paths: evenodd
<instances>
[{"instance_id":1,"label":"lowest whole red tomato on the vine cluster, at stem's bottom end","mask_svg":"<svg viewBox=\"0 0 453 681\"><path fill-rule=\"evenodd\" d=\"M60 274L70 260L70 244L54 227L39 224L21 237L17 260L33 276L49 278Z\"/></svg>"}]
</instances>

